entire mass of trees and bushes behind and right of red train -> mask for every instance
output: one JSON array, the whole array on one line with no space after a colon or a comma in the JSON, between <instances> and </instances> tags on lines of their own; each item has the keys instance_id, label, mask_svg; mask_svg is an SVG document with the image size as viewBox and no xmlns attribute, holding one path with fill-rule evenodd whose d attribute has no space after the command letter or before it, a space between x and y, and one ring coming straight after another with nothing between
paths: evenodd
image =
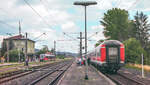
<instances>
[{"instance_id":1,"label":"entire mass of trees and bushes behind and right of red train","mask_svg":"<svg viewBox=\"0 0 150 85\"><path fill-rule=\"evenodd\" d=\"M150 65L150 24L148 16L143 12L136 13L134 20L128 19L128 12L113 8L104 13L101 24L104 26L104 35L107 39L124 42L126 61L141 63L141 54L144 54L144 63ZM100 43L96 43L96 46Z\"/></svg>"}]
</instances>

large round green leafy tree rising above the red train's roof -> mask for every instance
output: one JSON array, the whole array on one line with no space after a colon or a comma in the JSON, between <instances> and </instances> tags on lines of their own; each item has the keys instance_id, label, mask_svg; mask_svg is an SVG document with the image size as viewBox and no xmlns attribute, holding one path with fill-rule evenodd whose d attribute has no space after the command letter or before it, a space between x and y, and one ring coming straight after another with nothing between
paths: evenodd
<instances>
[{"instance_id":1,"label":"large round green leafy tree rising above the red train's roof","mask_svg":"<svg viewBox=\"0 0 150 85\"><path fill-rule=\"evenodd\" d=\"M124 41L128 39L128 12L126 10L113 8L104 13L100 21L104 26L104 36L108 39Z\"/></svg>"}]
</instances>

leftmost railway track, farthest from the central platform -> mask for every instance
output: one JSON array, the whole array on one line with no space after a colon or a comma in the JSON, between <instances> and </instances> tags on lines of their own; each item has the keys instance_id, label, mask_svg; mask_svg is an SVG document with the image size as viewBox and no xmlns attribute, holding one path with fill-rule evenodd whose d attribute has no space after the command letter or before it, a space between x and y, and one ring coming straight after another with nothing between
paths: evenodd
<instances>
[{"instance_id":1,"label":"leftmost railway track, farthest from the central platform","mask_svg":"<svg viewBox=\"0 0 150 85\"><path fill-rule=\"evenodd\" d=\"M63 61L63 62L65 62L65 61ZM61 63L62 62L56 62L56 63L44 65L44 66L33 67L30 70L19 70L19 71L15 71L15 72L12 72L12 73L8 73L6 75L2 75L0 77L0 85L3 84L3 83L6 83L8 81L11 81L11 80L14 80L14 79L17 79L17 78L35 73L35 72L37 72L39 70L42 70L42 69L46 69L46 68L53 69L53 68L59 66ZM45 71L47 71L47 70L45 70Z\"/></svg>"}]
</instances>

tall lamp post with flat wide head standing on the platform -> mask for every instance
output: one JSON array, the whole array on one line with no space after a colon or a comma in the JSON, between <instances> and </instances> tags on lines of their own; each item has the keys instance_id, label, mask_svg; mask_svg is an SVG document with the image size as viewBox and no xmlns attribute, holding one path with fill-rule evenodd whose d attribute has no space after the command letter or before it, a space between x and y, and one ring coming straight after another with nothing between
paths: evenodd
<instances>
[{"instance_id":1,"label":"tall lamp post with flat wide head standing on the platform","mask_svg":"<svg viewBox=\"0 0 150 85\"><path fill-rule=\"evenodd\" d=\"M86 58L86 71L85 71L85 79L88 79L88 64L87 64L87 18L86 18L86 7L90 5L96 5L97 2L95 1L76 1L74 5L81 5L84 6L85 10L85 58Z\"/></svg>"}]
</instances>

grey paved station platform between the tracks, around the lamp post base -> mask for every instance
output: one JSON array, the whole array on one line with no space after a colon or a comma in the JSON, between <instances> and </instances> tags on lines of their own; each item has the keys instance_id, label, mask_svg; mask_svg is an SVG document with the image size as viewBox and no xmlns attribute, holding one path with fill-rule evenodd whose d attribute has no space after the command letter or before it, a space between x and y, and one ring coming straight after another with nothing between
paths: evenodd
<instances>
[{"instance_id":1,"label":"grey paved station platform between the tracks, around the lamp post base","mask_svg":"<svg viewBox=\"0 0 150 85\"><path fill-rule=\"evenodd\" d=\"M74 62L57 85L116 85L91 66L88 67L89 79L85 80L85 69Z\"/></svg>"}]
</instances>

